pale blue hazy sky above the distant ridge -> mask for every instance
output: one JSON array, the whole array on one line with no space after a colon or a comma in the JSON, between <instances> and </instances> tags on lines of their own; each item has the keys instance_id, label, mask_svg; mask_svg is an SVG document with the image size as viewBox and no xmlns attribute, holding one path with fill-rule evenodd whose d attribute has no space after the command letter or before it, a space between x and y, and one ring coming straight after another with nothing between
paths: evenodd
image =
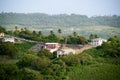
<instances>
[{"instance_id":1,"label":"pale blue hazy sky above the distant ridge","mask_svg":"<svg viewBox=\"0 0 120 80\"><path fill-rule=\"evenodd\" d=\"M0 12L120 15L120 0L0 0Z\"/></svg>"}]
</instances>

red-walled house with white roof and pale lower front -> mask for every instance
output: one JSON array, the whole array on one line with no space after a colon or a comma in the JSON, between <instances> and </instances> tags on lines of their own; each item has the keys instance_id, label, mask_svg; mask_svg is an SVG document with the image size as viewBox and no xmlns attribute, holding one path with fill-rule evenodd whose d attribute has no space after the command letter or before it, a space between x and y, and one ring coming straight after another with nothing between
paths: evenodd
<instances>
[{"instance_id":1,"label":"red-walled house with white roof and pale lower front","mask_svg":"<svg viewBox=\"0 0 120 80\"><path fill-rule=\"evenodd\" d=\"M45 48L50 50L50 52L57 51L60 48L59 43L45 43Z\"/></svg>"}]
</instances>

